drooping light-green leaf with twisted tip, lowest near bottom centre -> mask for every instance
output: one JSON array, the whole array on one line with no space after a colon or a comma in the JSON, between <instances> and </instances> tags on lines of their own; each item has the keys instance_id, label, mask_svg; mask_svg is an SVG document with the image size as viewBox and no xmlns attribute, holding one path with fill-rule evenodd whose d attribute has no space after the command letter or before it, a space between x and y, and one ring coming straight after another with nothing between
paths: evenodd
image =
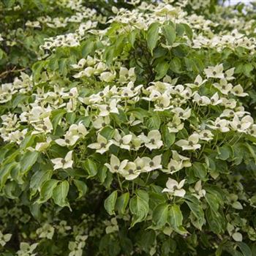
<instances>
[{"instance_id":1,"label":"drooping light-green leaf with twisted tip, lowest near bottom centre","mask_svg":"<svg viewBox=\"0 0 256 256\"><path fill-rule=\"evenodd\" d=\"M132 213L132 223L130 227L146 219L149 210L148 193L143 190L138 190L136 195L129 200L129 209Z\"/></svg>"}]
</instances>

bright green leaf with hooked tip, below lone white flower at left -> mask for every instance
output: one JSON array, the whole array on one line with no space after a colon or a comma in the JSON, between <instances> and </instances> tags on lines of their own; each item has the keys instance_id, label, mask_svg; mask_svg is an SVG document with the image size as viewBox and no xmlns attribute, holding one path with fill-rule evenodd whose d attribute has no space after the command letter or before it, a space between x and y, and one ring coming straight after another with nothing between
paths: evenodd
<instances>
[{"instance_id":1,"label":"bright green leaf with hooked tip, below lone white flower at left","mask_svg":"<svg viewBox=\"0 0 256 256\"><path fill-rule=\"evenodd\" d=\"M61 181L54 189L53 189L53 201L58 206L64 207L67 206L71 210L69 203L67 201L67 194L69 192L69 182Z\"/></svg>"}]
</instances>

